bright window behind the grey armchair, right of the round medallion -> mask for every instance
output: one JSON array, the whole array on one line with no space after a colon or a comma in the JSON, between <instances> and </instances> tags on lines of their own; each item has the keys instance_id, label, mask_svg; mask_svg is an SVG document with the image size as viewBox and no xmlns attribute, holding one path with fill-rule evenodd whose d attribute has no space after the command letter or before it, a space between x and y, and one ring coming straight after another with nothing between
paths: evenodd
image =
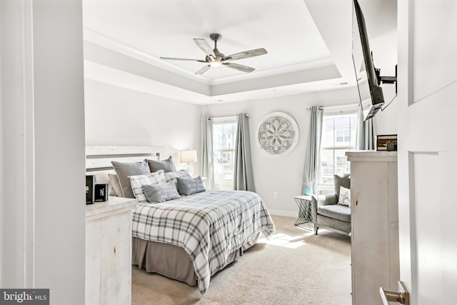
<instances>
[{"instance_id":1,"label":"bright window behind the grey armchair, right of the round medallion","mask_svg":"<svg viewBox=\"0 0 457 305\"><path fill-rule=\"evenodd\" d=\"M319 185L333 185L333 174L351 171L346 151L356 148L357 112L323 114Z\"/></svg>"}]
</instances>

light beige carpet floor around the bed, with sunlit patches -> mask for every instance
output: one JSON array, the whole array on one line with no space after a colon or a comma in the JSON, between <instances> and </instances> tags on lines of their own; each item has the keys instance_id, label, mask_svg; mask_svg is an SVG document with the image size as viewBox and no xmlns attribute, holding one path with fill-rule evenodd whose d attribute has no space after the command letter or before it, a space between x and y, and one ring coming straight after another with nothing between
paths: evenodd
<instances>
[{"instance_id":1,"label":"light beige carpet floor around the bed, with sunlit patches","mask_svg":"<svg viewBox=\"0 0 457 305\"><path fill-rule=\"evenodd\" d=\"M294 226L272 216L273 239L258 242L211 278L201 296L189 286L132 266L132 305L148 304L351 304L351 239Z\"/></svg>"}]
</instances>

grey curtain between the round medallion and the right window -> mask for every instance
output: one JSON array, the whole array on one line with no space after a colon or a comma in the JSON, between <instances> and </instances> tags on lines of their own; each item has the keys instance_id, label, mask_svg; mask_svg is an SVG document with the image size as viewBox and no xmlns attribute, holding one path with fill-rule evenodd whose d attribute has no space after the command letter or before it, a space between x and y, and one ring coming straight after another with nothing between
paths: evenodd
<instances>
[{"instance_id":1,"label":"grey curtain between the round medallion and the right window","mask_svg":"<svg viewBox=\"0 0 457 305\"><path fill-rule=\"evenodd\" d=\"M316 194L319 154L321 150L323 110L320 106L311 107L308 146L306 147L303 186L311 186ZM303 187L301 188L303 194Z\"/></svg>"}]
</instances>

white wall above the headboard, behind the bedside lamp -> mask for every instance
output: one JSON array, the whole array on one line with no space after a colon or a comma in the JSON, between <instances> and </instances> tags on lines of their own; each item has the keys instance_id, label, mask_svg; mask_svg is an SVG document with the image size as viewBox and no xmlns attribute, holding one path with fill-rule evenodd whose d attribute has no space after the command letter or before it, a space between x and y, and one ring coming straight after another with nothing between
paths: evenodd
<instances>
[{"instance_id":1,"label":"white wall above the headboard, behind the bedside lamp","mask_svg":"<svg viewBox=\"0 0 457 305\"><path fill-rule=\"evenodd\" d=\"M84 81L86 145L164 145L177 169L181 149L200 151L200 106L99 81ZM199 162L193 164L199 175Z\"/></svg>"}]
</instances>

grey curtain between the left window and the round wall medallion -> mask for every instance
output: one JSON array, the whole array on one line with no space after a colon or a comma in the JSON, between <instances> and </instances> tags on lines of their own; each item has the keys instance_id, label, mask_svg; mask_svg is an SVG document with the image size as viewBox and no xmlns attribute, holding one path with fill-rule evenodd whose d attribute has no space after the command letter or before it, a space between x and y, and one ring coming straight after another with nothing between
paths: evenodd
<instances>
[{"instance_id":1,"label":"grey curtain between the left window and the round wall medallion","mask_svg":"<svg viewBox=\"0 0 457 305\"><path fill-rule=\"evenodd\" d=\"M233 189L254 191L251 142L249 141L249 119L246 114L238 115L238 128L236 132Z\"/></svg>"}]
</instances>

